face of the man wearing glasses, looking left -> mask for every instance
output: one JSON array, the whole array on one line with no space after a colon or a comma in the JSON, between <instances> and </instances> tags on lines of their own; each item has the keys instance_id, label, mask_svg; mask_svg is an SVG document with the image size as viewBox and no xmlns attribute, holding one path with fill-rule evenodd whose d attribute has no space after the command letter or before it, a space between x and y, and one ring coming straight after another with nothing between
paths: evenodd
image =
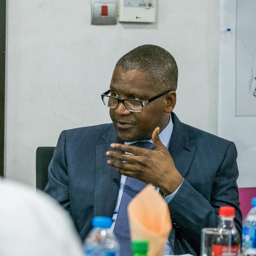
<instances>
[{"instance_id":1,"label":"face of the man wearing glasses, looking left","mask_svg":"<svg viewBox=\"0 0 256 256\"><path fill-rule=\"evenodd\" d=\"M158 94L150 84L147 73L136 69L124 72L122 67L116 66L110 84L111 95L120 99L148 100ZM118 137L124 142L133 142L150 139L156 127L160 127L160 131L165 128L169 121L165 107L165 96L162 96L145 105L141 112L130 112L120 103L116 109L110 108L109 114Z\"/></svg>"}]
</instances>

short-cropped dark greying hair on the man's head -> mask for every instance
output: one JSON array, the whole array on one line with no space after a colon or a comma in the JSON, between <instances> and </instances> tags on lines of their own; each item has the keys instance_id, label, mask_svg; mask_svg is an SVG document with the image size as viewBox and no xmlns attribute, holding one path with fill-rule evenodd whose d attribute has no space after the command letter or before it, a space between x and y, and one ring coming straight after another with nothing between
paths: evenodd
<instances>
[{"instance_id":1,"label":"short-cropped dark greying hair on the man's head","mask_svg":"<svg viewBox=\"0 0 256 256\"><path fill-rule=\"evenodd\" d=\"M137 69L151 77L152 88L156 92L176 90L178 67L173 56L164 48L144 44L125 54L116 64L124 71Z\"/></svg>"}]
</instances>

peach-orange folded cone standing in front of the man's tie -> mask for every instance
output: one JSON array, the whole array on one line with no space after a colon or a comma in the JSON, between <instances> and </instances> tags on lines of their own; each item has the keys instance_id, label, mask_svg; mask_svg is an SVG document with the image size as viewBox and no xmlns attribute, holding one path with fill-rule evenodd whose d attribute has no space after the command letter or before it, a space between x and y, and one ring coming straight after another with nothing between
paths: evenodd
<instances>
[{"instance_id":1,"label":"peach-orange folded cone standing in front of the man's tie","mask_svg":"<svg viewBox=\"0 0 256 256\"><path fill-rule=\"evenodd\" d=\"M162 256L172 229L168 205L149 184L128 206L131 239L149 242L148 256Z\"/></svg>"}]
</instances>

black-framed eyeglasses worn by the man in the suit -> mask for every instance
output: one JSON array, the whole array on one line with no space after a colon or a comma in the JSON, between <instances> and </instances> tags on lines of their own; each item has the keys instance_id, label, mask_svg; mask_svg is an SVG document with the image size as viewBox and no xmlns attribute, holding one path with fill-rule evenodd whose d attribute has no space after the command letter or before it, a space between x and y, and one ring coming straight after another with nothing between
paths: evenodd
<instances>
[{"instance_id":1,"label":"black-framed eyeglasses worn by the man in the suit","mask_svg":"<svg viewBox=\"0 0 256 256\"><path fill-rule=\"evenodd\" d=\"M109 107L109 108L117 108L119 103L122 102L125 107L131 111L131 112L141 112L142 111L142 108L149 104L150 102L158 99L159 97L161 97L162 95L164 94L167 94L167 92L169 92L171 90L167 90L167 91L164 91L162 92L161 94L158 94L146 101L141 101L141 100L128 100L128 99L125 99L125 100L121 100L117 97L114 97L114 96L109 96L108 94L111 92L110 90L107 90L106 92L104 92L102 95L101 95L101 99L104 103L105 106Z\"/></svg>"}]
</instances>

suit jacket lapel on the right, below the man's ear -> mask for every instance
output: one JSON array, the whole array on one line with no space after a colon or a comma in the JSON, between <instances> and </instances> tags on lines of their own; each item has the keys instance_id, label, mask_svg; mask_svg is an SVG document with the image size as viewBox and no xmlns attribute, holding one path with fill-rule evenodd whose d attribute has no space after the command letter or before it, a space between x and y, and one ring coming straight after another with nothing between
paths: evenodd
<instances>
[{"instance_id":1,"label":"suit jacket lapel on the right, below the man's ear","mask_svg":"<svg viewBox=\"0 0 256 256\"><path fill-rule=\"evenodd\" d=\"M172 113L172 119L173 132L169 152L175 167L181 176L185 177L192 165L197 145L194 144L193 134L189 132L188 126L181 123L174 113Z\"/></svg>"}]
</instances>

